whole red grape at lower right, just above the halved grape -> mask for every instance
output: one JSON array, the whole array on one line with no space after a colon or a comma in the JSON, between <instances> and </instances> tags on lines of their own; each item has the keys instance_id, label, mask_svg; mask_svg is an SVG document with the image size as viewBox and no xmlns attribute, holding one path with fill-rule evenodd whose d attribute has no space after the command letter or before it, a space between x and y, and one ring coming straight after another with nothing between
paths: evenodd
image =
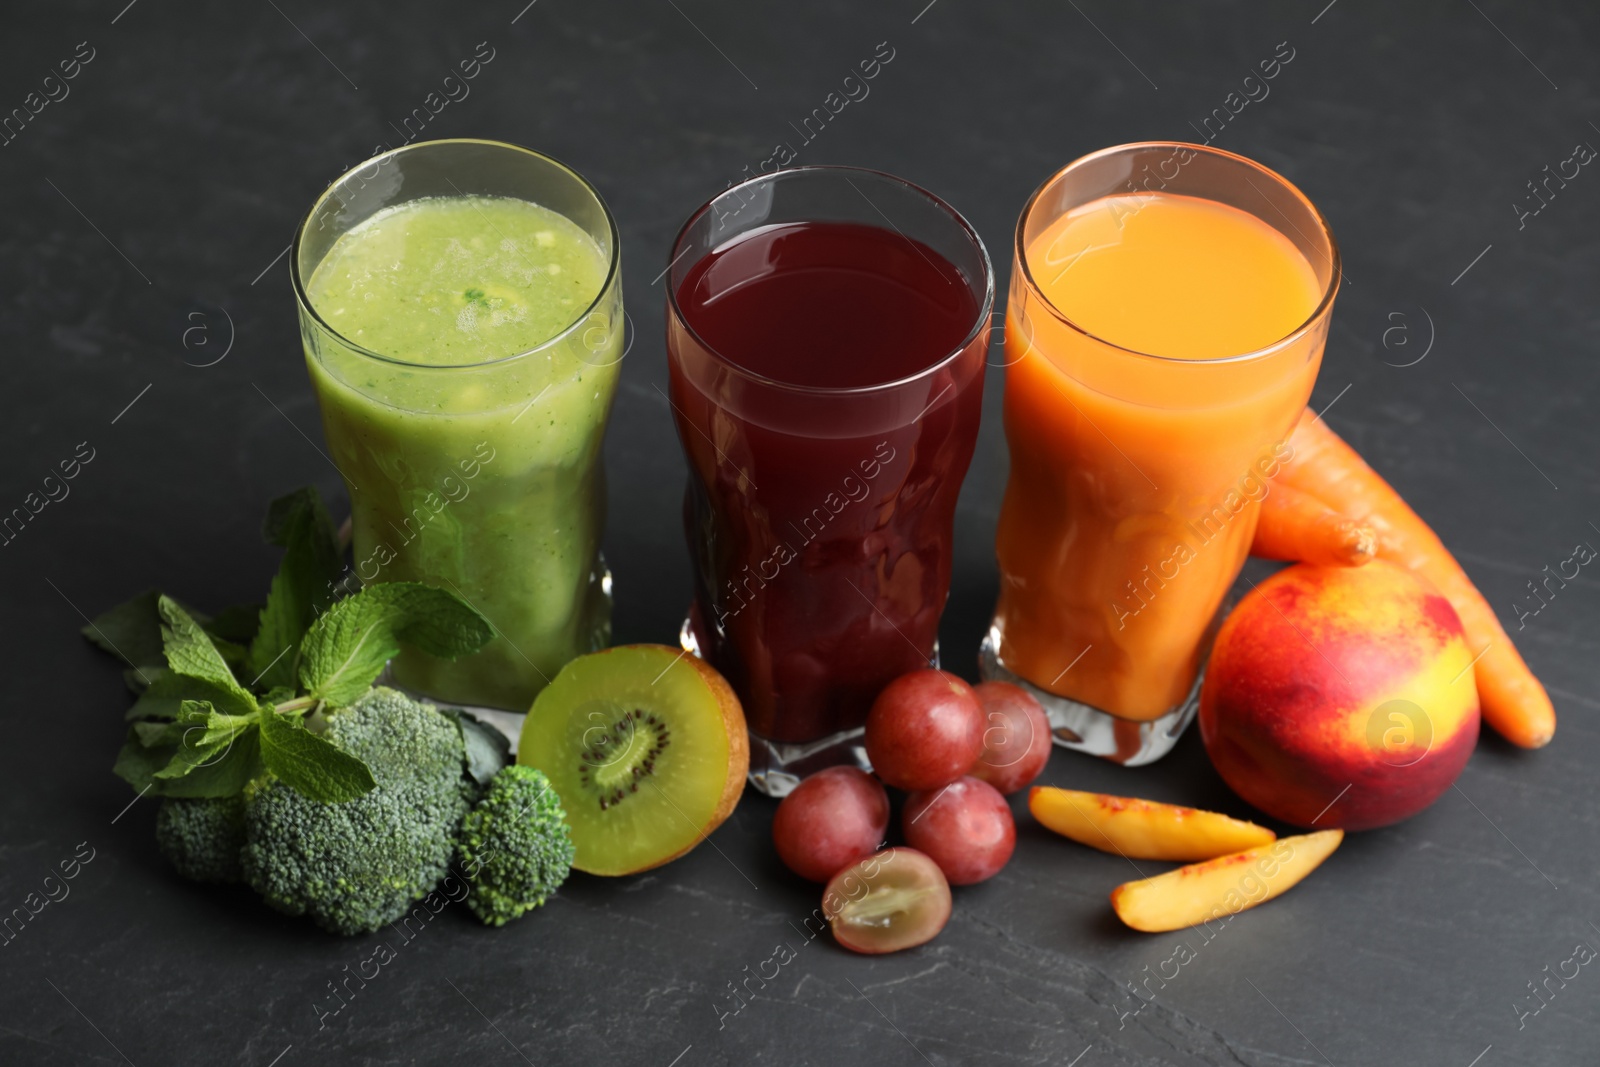
<instances>
[{"instance_id":1,"label":"whole red grape at lower right, just above the halved grape","mask_svg":"<svg viewBox=\"0 0 1600 1067\"><path fill-rule=\"evenodd\" d=\"M1016 848L1010 805L976 777L915 793L906 801L901 827L906 843L926 853L957 886L992 878Z\"/></svg>"}]
</instances>

